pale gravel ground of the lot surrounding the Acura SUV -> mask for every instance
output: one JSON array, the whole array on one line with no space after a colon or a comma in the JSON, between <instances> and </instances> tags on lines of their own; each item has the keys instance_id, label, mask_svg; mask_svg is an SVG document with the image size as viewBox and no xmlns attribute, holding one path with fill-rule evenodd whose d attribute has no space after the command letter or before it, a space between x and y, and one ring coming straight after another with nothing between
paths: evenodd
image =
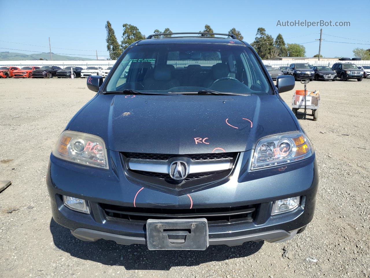
<instances>
[{"instance_id":1,"label":"pale gravel ground of the lot surrounding the Acura SUV","mask_svg":"<svg viewBox=\"0 0 370 278\"><path fill-rule=\"evenodd\" d=\"M0 180L12 184L0 193L0 277L370 277L370 80L308 89L321 91L319 120L297 117L316 149L320 185L306 231L278 244L168 252L82 242L52 220L48 157L94 93L86 79L1 79ZM292 92L282 97L291 104Z\"/></svg>"}]
</instances>

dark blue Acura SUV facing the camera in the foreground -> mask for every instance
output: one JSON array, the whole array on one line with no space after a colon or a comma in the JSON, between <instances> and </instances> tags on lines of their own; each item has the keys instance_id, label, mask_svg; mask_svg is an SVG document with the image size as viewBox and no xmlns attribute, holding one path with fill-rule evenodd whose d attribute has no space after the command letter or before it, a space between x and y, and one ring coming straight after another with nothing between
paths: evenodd
<instances>
[{"instance_id":1,"label":"dark blue Acura SUV facing the camera in the foreground","mask_svg":"<svg viewBox=\"0 0 370 278\"><path fill-rule=\"evenodd\" d=\"M104 82L87 78L97 94L50 155L57 223L84 241L149 249L281 242L305 229L319 175L279 95L295 81L278 76L275 86L253 47L225 36L232 41L149 36L125 49ZM184 60L194 65L184 69Z\"/></svg>"}]
</instances>

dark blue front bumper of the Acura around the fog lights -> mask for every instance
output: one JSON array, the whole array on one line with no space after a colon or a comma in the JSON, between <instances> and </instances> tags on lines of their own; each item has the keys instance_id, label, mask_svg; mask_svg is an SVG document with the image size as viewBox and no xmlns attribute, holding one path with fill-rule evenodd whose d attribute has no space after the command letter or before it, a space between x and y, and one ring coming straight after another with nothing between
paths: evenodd
<instances>
[{"instance_id":1,"label":"dark blue front bumper of the Acura around the fog lights","mask_svg":"<svg viewBox=\"0 0 370 278\"><path fill-rule=\"evenodd\" d=\"M318 186L315 155L286 166L241 172L249 165L251 151L240 154L231 178L206 186L200 191L184 189L184 194L171 194L128 178L117 152L108 150L115 165L109 170L80 166L50 157L47 187L54 220L69 229L77 238L87 241L114 240L119 244L145 244L145 224L108 217L103 205L136 208L189 209L221 208L255 205L253 221L209 225L209 244L240 245L246 241L284 241L306 226L313 218ZM250 169L250 168L248 168ZM138 191L140 194L137 195ZM88 201L90 214L68 209L62 195ZM302 196L301 205L294 211L271 216L272 202Z\"/></svg>"}]
</instances>

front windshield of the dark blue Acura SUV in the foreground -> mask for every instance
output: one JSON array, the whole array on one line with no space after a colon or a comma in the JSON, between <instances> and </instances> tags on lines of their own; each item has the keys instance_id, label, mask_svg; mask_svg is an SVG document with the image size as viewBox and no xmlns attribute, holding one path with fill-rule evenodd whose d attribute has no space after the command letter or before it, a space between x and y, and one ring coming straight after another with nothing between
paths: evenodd
<instances>
[{"instance_id":1,"label":"front windshield of the dark blue Acura SUV in the foreground","mask_svg":"<svg viewBox=\"0 0 370 278\"><path fill-rule=\"evenodd\" d=\"M119 61L105 92L191 93L215 90L272 94L263 65L246 46L151 44L132 47Z\"/></svg>"}]
</instances>

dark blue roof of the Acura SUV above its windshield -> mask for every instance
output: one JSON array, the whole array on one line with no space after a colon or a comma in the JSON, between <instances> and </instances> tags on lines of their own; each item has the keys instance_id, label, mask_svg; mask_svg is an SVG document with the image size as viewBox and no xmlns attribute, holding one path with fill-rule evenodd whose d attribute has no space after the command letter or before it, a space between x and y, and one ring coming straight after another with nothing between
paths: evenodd
<instances>
[{"instance_id":1,"label":"dark blue roof of the Acura SUV above its windshield","mask_svg":"<svg viewBox=\"0 0 370 278\"><path fill-rule=\"evenodd\" d=\"M223 44L239 44L249 45L248 43L232 38L216 38L216 37L166 37L160 39L140 40L136 45L146 44L168 44L168 43L223 43Z\"/></svg>"}]
</instances>

